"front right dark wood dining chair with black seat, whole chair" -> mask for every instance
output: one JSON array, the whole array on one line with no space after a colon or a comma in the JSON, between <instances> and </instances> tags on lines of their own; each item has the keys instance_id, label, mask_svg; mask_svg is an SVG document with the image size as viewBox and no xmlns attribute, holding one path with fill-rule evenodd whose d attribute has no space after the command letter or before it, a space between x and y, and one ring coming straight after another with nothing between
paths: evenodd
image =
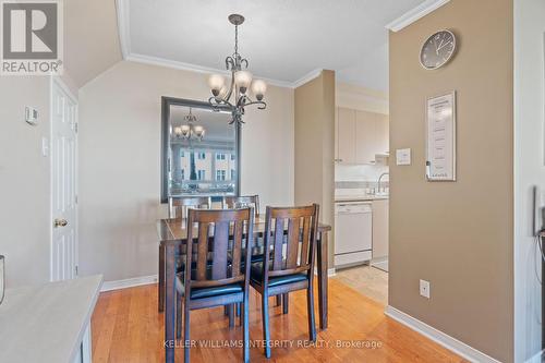
<instances>
[{"instance_id":1,"label":"front right dark wood dining chair with black seat, whole chair","mask_svg":"<svg viewBox=\"0 0 545 363\"><path fill-rule=\"evenodd\" d=\"M267 358L270 358L268 298L271 295L306 290L308 336L310 340L316 341L313 275L318 215L317 204L293 208L267 207L265 251L269 251L271 245L274 249L271 255L265 254L263 262L252 264L250 280L251 286L262 294L263 339Z\"/></svg>"}]
</instances>

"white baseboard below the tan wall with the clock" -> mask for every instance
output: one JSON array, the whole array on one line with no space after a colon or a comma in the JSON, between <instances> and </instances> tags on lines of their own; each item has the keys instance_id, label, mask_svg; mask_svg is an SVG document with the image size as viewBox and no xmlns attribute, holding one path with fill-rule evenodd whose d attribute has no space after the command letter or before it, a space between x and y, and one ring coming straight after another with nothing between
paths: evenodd
<instances>
[{"instance_id":1,"label":"white baseboard below the tan wall with the clock","mask_svg":"<svg viewBox=\"0 0 545 363\"><path fill-rule=\"evenodd\" d=\"M486 355L485 353L468 346L464 342L461 342L460 340L452 338L451 336L437 330L436 328L422 323L421 320L412 317L411 315L408 315L396 307L391 306L386 306L386 310L384 313L391 317L392 319L405 325L407 327L422 334L426 338L435 341L436 343L447 348L448 350L451 350L452 352L457 353L458 355L461 355L462 358L467 359L470 362L475 362L475 363L500 363L499 361L495 360L494 358Z\"/></svg>"}]
</instances>

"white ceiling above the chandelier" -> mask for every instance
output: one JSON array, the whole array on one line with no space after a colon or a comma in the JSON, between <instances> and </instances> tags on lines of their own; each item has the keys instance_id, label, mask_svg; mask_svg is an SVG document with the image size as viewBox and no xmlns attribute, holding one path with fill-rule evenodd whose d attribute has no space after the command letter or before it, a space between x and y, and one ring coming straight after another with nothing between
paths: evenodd
<instances>
[{"instance_id":1,"label":"white ceiling above the chandelier","mask_svg":"<svg viewBox=\"0 0 545 363\"><path fill-rule=\"evenodd\" d=\"M329 69L337 71L338 81L387 90L385 26L422 2L131 0L120 26L125 56L223 70L234 43L227 16L240 13L246 22L239 28L239 50L256 76L291 84L316 69Z\"/></svg>"}]
</instances>

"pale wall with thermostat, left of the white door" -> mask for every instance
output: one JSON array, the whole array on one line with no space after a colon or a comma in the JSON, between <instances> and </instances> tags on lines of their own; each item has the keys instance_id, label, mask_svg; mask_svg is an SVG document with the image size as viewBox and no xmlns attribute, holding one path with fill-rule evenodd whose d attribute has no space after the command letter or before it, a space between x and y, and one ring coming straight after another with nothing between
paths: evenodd
<instances>
[{"instance_id":1,"label":"pale wall with thermostat, left of the white door","mask_svg":"<svg viewBox=\"0 0 545 363\"><path fill-rule=\"evenodd\" d=\"M8 287L49 280L49 88L46 76L0 76L0 254ZM25 106L39 125L25 122Z\"/></svg>"}]
</instances>

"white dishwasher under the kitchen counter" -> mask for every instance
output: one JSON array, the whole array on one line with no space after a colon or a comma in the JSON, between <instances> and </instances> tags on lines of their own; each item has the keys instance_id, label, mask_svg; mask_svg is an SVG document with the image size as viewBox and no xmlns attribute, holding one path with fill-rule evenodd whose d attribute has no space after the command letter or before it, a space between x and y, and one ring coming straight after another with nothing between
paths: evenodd
<instances>
[{"instance_id":1,"label":"white dishwasher under the kitchen counter","mask_svg":"<svg viewBox=\"0 0 545 363\"><path fill-rule=\"evenodd\" d=\"M335 204L335 267L371 261L373 208L370 202Z\"/></svg>"}]
</instances>

